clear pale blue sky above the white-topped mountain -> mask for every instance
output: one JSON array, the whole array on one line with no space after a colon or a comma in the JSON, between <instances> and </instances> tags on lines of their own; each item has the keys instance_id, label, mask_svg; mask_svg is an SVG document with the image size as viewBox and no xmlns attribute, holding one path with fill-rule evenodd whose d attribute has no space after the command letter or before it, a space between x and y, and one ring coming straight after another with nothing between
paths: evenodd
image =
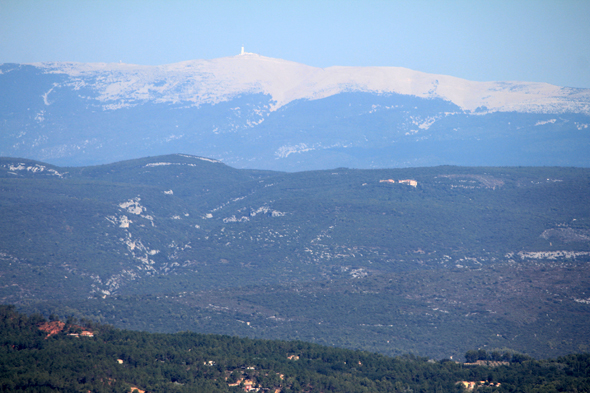
<instances>
[{"instance_id":1,"label":"clear pale blue sky above the white-topped mountain","mask_svg":"<svg viewBox=\"0 0 590 393\"><path fill-rule=\"evenodd\" d=\"M0 63L167 64L246 51L590 88L590 0L0 0Z\"/></svg>"}]
</instances>

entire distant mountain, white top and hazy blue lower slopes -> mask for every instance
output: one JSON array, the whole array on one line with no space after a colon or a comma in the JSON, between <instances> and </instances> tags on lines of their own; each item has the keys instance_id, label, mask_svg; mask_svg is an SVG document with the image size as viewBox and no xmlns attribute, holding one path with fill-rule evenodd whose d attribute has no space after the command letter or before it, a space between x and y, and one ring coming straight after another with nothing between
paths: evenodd
<instances>
[{"instance_id":1,"label":"entire distant mountain, white top and hazy blue lower slopes","mask_svg":"<svg viewBox=\"0 0 590 393\"><path fill-rule=\"evenodd\" d=\"M590 91L243 54L3 64L0 155L88 165L185 152L237 167L588 166ZM473 153L477 152L477 153Z\"/></svg>"}]
</instances>

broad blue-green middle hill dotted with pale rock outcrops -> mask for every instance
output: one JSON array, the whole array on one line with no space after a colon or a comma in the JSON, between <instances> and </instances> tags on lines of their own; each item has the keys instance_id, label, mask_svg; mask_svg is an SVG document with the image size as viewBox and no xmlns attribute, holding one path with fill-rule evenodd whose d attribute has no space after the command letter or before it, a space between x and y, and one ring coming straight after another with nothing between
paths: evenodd
<instances>
[{"instance_id":1,"label":"broad blue-green middle hill dotted with pale rock outcrops","mask_svg":"<svg viewBox=\"0 0 590 393\"><path fill-rule=\"evenodd\" d=\"M436 359L590 349L590 169L0 159L0 302Z\"/></svg>"}]
</instances>

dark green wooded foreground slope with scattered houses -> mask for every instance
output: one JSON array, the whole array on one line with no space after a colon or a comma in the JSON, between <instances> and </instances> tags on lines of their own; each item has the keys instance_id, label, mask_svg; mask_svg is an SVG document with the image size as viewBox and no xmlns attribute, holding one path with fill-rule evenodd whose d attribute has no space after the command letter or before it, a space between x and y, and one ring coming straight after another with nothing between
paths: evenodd
<instances>
[{"instance_id":1,"label":"dark green wooded foreground slope with scattered houses","mask_svg":"<svg viewBox=\"0 0 590 393\"><path fill-rule=\"evenodd\" d=\"M52 319L0 307L1 391L461 392L465 386L475 386L478 392L590 390L588 354L536 361L483 351L496 361L464 365L303 342L150 334ZM49 324L61 328L50 331ZM82 329L87 335L80 334Z\"/></svg>"}]
</instances>

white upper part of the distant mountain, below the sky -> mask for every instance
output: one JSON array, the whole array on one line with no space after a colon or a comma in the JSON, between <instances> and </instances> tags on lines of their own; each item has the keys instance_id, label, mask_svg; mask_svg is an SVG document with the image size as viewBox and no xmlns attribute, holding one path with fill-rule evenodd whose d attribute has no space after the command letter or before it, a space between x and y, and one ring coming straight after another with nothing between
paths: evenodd
<instances>
[{"instance_id":1,"label":"white upper part of the distant mountain, below the sky","mask_svg":"<svg viewBox=\"0 0 590 393\"><path fill-rule=\"evenodd\" d=\"M310 67L245 53L161 66L121 63L39 63L44 72L66 74L68 84L94 90L118 108L137 102L215 104L241 94L272 97L271 110L298 99L343 92L395 93L442 98L462 110L590 114L590 89L533 82L473 82L401 67ZM118 105L116 104L118 102Z\"/></svg>"}]
</instances>

